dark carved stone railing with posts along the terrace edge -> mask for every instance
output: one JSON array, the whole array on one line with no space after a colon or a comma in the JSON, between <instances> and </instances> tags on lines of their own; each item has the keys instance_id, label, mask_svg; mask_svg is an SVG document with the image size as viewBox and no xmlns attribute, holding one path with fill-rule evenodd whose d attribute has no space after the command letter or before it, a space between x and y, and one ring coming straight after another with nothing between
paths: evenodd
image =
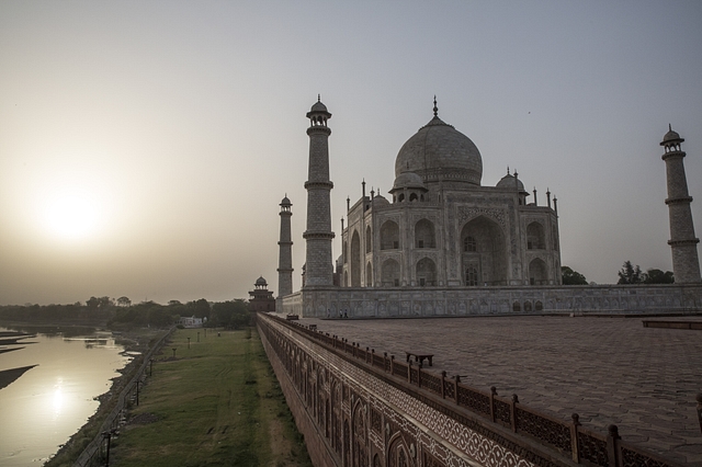
<instances>
[{"instance_id":1,"label":"dark carved stone railing with posts along the terrace edge","mask_svg":"<svg viewBox=\"0 0 702 467\"><path fill-rule=\"evenodd\" d=\"M665 459L663 456L647 452L633 444L621 440L616 425L610 425L607 435L581 428L577 413L573 414L570 422L565 422L546 413L522 406L517 395L511 398L501 397L495 387L490 391L483 391L461 383L461 377L446 378L446 372L435 374L426 371L421 364L412 365L412 362L398 362L394 355L383 356L373 349L362 349L358 342L349 343L338 335L329 335L310 330L295 321L286 321L271 315L263 315L264 319L258 322L263 333L270 331L268 319L274 320L290 330L324 345L327 351L346 355L359 367L374 367L392 376L416 386L419 391L439 396L451 401L462 409L478 414L496 424L510 429L513 433L525 436L539 444L555 451L565 459L586 466L603 467L680 467L679 464ZM287 368L288 374L294 375L294 362L290 356L290 349L281 352L279 357ZM700 400L702 407L702 399ZM702 413L702 409L701 412ZM451 412L448 413L450 417ZM702 426L702 414L701 426ZM462 417L456 412L457 421Z\"/></svg>"}]
</instances>

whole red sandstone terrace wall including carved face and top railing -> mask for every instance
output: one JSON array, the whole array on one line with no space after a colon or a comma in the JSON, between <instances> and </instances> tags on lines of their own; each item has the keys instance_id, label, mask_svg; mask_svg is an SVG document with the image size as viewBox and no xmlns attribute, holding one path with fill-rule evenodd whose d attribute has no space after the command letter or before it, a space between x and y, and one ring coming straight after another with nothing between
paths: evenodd
<instances>
[{"instance_id":1,"label":"whole red sandstone terrace wall including carved face and top railing","mask_svg":"<svg viewBox=\"0 0 702 467\"><path fill-rule=\"evenodd\" d=\"M321 465L678 466L615 425L603 435L338 335L268 315L258 324Z\"/></svg>"}]
</instances>

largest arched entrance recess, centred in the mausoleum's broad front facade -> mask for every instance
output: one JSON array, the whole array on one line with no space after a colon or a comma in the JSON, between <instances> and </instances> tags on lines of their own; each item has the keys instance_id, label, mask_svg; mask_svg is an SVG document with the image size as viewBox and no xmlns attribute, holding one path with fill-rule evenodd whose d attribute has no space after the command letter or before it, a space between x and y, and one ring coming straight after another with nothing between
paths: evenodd
<instances>
[{"instance_id":1,"label":"largest arched entrance recess, centred in the mausoleum's broad front facade","mask_svg":"<svg viewBox=\"0 0 702 467\"><path fill-rule=\"evenodd\" d=\"M507 242L495 220L479 216L468 221L460 241L464 285L507 285Z\"/></svg>"}]
</instances>

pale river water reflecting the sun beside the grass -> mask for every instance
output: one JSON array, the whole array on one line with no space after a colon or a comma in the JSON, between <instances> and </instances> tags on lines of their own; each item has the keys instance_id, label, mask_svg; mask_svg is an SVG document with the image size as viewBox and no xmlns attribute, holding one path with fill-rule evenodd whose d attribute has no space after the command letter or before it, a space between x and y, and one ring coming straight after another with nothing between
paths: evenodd
<instances>
[{"instance_id":1,"label":"pale river water reflecting the sun beside the grass","mask_svg":"<svg viewBox=\"0 0 702 467\"><path fill-rule=\"evenodd\" d=\"M0 328L0 331L7 331ZM0 466L41 466L98 409L131 360L109 332L90 329L36 333L14 345L0 345L0 371L37 365L0 389Z\"/></svg>"}]
</instances>

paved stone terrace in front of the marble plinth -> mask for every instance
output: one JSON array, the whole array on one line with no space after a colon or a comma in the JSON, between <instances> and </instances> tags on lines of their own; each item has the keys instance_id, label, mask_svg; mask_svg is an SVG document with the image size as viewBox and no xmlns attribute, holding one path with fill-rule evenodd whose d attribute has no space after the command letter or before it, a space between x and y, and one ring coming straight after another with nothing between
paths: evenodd
<instances>
[{"instance_id":1,"label":"paved stone terrace in front of the marble plinth","mask_svg":"<svg viewBox=\"0 0 702 467\"><path fill-rule=\"evenodd\" d=\"M667 318L667 320L701 320ZM660 318L664 320L664 318ZM702 331L644 328L642 318L480 317L316 319L303 324L404 360L433 353L433 369L464 384L584 426L683 465L702 467L695 396L702 392Z\"/></svg>"}]
</instances>

